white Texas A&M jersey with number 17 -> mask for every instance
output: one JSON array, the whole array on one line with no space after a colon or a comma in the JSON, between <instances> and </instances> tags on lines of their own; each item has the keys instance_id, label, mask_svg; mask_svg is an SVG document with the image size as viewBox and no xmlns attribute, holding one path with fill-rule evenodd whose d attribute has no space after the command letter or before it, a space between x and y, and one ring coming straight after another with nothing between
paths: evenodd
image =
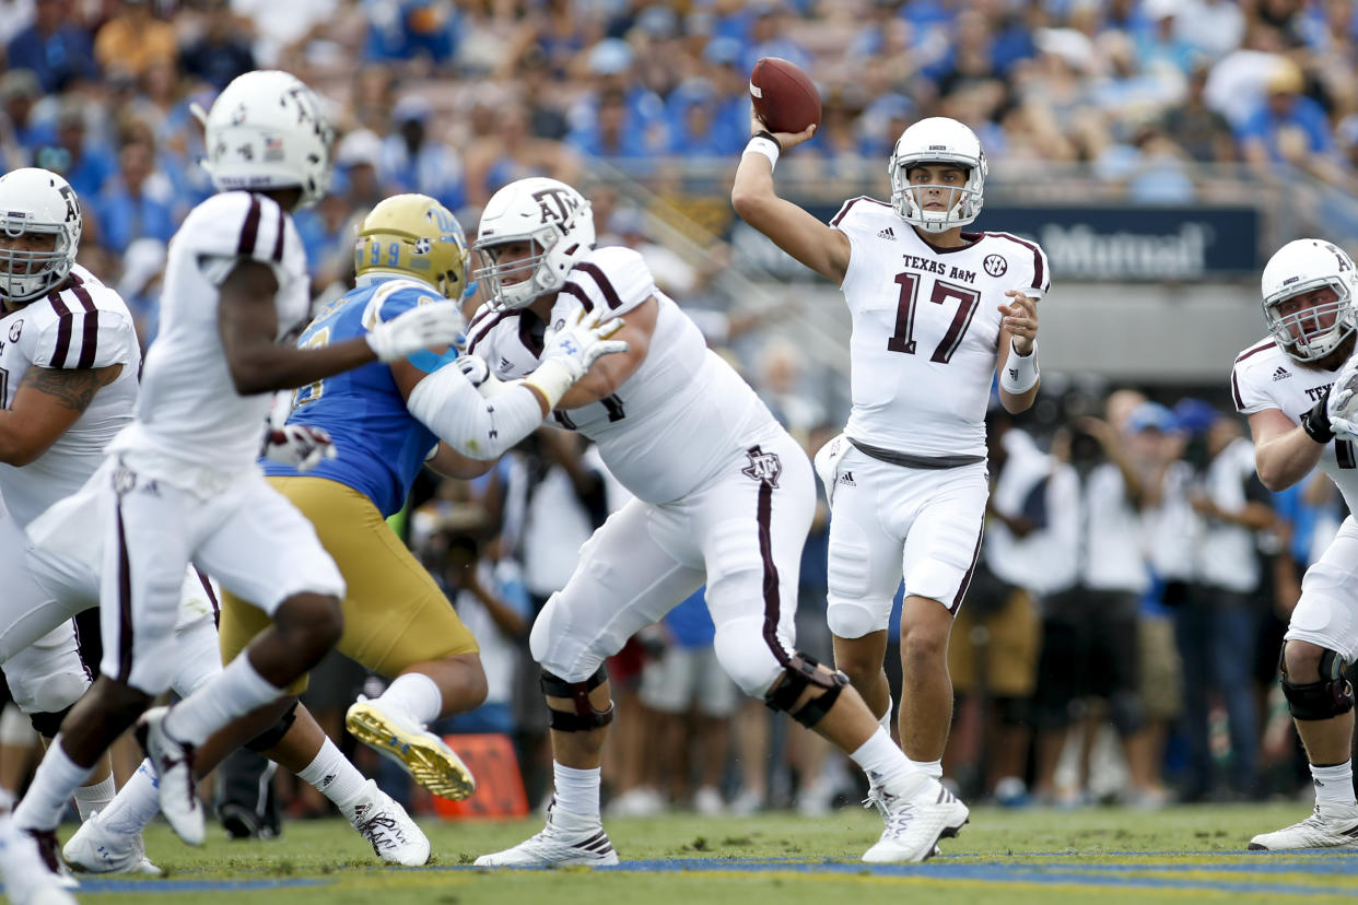
<instances>
[{"instance_id":1,"label":"white Texas A&M jersey with number 17","mask_svg":"<svg viewBox=\"0 0 1358 905\"><path fill-rule=\"evenodd\" d=\"M1046 294L1047 255L1005 232L937 248L872 198L846 201L830 225L851 246L839 286L853 317L845 433L914 456L985 456L997 308L1006 289Z\"/></svg>"}]
</instances>

